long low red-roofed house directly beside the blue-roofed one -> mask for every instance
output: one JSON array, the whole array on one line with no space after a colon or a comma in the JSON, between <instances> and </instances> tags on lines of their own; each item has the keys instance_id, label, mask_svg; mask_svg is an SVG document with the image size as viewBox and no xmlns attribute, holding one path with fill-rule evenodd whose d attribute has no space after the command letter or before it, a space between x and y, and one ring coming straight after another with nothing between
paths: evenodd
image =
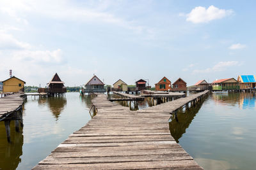
<instances>
[{"instance_id":1,"label":"long low red-roofed house directly beside the blue-roofed one","mask_svg":"<svg viewBox=\"0 0 256 170\"><path fill-rule=\"evenodd\" d=\"M225 78L212 82L212 90L239 90L239 83L234 78Z\"/></svg>"}]
</instances>

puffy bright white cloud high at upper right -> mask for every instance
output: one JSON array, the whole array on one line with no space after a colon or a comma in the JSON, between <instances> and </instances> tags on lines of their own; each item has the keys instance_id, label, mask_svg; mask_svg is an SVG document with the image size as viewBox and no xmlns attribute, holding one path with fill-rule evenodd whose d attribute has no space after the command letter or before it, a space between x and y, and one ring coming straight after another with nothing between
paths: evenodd
<instances>
[{"instance_id":1,"label":"puffy bright white cloud high at upper right","mask_svg":"<svg viewBox=\"0 0 256 170\"><path fill-rule=\"evenodd\" d=\"M203 6L196 6L193 10L191 10L190 13L186 15L186 20L193 22L194 24L198 24L221 19L231 15L232 13L234 13L233 10L221 10L213 5L209 6L207 9Z\"/></svg>"}]
</instances>

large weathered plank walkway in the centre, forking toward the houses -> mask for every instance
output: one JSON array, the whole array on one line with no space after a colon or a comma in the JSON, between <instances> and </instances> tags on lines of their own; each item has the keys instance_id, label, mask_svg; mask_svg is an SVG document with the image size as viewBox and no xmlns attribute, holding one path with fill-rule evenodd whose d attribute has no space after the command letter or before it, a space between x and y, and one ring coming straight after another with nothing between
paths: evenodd
<instances>
[{"instance_id":1,"label":"large weathered plank walkway in the centre, forking toward the houses","mask_svg":"<svg viewBox=\"0 0 256 170\"><path fill-rule=\"evenodd\" d=\"M160 104L145 110L93 99L97 115L71 134L33 169L202 169L175 142L168 120L208 91Z\"/></svg>"}]
</instances>

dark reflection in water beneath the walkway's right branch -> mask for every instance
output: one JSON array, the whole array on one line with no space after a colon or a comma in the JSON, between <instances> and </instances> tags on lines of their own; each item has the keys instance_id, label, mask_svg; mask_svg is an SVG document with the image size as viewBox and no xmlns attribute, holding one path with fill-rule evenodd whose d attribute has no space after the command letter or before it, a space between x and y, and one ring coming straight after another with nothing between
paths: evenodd
<instances>
[{"instance_id":1,"label":"dark reflection in water beneath the walkway's right branch","mask_svg":"<svg viewBox=\"0 0 256 170\"><path fill-rule=\"evenodd\" d=\"M177 143L179 143L179 139L182 137L182 134L186 132L186 129L195 118L196 113L198 113L203 103L204 100L196 103L196 105L189 108L189 110L178 111L177 119L175 118L175 115L172 115L170 119L171 121L169 122L169 129Z\"/></svg>"}]
</instances>

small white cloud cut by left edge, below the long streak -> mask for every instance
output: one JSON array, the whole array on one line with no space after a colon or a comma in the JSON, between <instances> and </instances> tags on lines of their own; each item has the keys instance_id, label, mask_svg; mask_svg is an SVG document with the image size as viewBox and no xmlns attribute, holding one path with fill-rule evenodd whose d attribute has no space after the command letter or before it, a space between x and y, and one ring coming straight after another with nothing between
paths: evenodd
<instances>
[{"instance_id":1,"label":"small white cloud cut by left edge, below the long streak","mask_svg":"<svg viewBox=\"0 0 256 170\"><path fill-rule=\"evenodd\" d=\"M21 42L15 39L12 34L0 30L0 50L28 49L29 43Z\"/></svg>"}]
</instances>

